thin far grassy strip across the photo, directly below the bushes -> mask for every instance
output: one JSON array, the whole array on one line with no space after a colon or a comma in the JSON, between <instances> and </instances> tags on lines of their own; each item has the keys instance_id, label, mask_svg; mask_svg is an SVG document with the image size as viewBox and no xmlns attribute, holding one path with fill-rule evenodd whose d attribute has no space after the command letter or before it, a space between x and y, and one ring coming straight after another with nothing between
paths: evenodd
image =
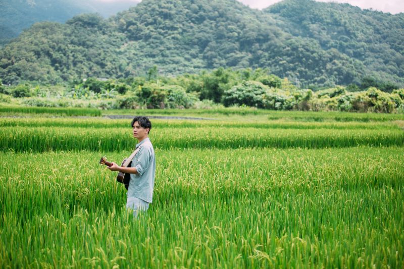
<instances>
[{"instance_id":1,"label":"thin far grassy strip across the photo, directly below the bushes","mask_svg":"<svg viewBox=\"0 0 404 269\"><path fill-rule=\"evenodd\" d=\"M228 120L245 116L247 119L292 120L292 121L338 121L338 122L372 122L372 121L402 121L404 114L384 113L349 113L349 112L305 112L305 111L270 111L249 107L227 107L224 109L155 109L155 110L96 110L82 107L35 107L35 106L0 106L2 116L21 116L29 114L44 114L47 116L108 116L108 115L141 115L141 116L190 116ZM249 117L247 117L249 116Z\"/></svg>"}]
</instances>

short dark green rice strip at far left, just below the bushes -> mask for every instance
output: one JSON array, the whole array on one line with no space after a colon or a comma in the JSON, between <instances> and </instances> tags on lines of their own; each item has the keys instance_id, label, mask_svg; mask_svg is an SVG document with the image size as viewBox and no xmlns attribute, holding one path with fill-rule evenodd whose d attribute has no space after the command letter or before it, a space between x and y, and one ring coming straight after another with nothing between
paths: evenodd
<instances>
[{"instance_id":1,"label":"short dark green rice strip at far left, just below the bushes","mask_svg":"<svg viewBox=\"0 0 404 269\"><path fill-rule=\"evenodd\" d=\"M64 116L101 116L97 109L83 109L76 107L36 107L36 106L0 106L0 113L14 114L52 114Z\"/></svg>"}]
</instances>

